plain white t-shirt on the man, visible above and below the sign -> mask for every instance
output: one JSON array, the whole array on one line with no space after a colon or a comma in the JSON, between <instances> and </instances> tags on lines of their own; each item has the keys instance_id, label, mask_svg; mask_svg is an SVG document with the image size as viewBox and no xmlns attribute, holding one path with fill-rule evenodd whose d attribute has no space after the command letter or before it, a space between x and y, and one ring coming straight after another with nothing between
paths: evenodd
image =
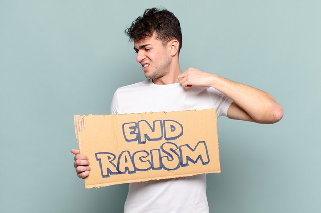
<instances>
[{"instance_id":1,"label":"plain white t-shirt on the man, visible above and below the sign","mask_svg":"<svg viewBox=\"0 0 321 213\"><path fill-rule=\"evenodd\" d=\"M110 110L126 114L215 108L219 117L226 116L232 102L212 87L184 89L180 83L157 85L148 79L117 89ZM130 183L124 212L209 212L206 175Z\"/></svg>"}]
</instances>

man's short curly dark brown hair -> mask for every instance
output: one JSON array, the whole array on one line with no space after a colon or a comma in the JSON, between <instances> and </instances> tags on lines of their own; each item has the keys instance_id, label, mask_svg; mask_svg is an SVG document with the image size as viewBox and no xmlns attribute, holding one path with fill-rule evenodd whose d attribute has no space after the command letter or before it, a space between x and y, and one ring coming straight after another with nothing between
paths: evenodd
<instances>
[{"instance_id":1,"label":"man's short curly dark brown hair","mask_svg":"<svg viewBox=\"0 0 321 213\"><path fill-rule=\"evenodd\" d=\"M163 46L176 39L179 42L178 53L182 48L180 23L175 15L166 9L146 9L143 16L136 18L130 28L125 30L125 33L131 42L140 41L156 33L156 39L162 41Z\"/></svg>"}]
</instances>

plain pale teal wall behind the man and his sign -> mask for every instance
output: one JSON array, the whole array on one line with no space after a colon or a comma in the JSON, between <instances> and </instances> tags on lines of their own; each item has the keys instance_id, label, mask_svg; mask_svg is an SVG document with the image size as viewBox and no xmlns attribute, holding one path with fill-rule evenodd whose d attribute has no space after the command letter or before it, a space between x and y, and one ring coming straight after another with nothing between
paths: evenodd
<instances>
[{"instance_id":1,"label":"plain pale teal wall behind the man and his sign","mask_svg":"<svg viewBox=\"0 0 321 213\"><path fill-rule=\"evenodd\" d=\"M321 212L321 3L254 0L1 0L0 212L123 211L127 184L85 190L76 176L73 115L108 114L118 87L145 79L124 29L154 6L181 22L183 70L284 108L273 125L218 120L210 212Z\"/></svg>"}]
</instances>

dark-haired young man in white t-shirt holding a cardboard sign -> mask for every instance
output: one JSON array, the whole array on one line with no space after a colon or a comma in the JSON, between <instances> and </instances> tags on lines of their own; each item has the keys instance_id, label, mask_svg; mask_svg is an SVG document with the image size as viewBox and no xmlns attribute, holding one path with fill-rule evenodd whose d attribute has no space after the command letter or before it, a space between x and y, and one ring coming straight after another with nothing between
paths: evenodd
<instances>
[{"instance_id":1,"label":"dark-haired young man in white t-shirt holding a cardboard sign","mask_svg":"<svg viewBox=\"0 0 321 213\"><path fill-rule=\"evenodd\" d=\"M182 73L182 34L173 13L147 9L125 32L134 41L136 60L148 80L117 89L112 114L216 108L217 117L265 124L282 118L282 106L264 91L194 68ZM78 177L87 177L88 158L78 150L71 152ZM124 207L124 212L208 211L204 174L131 183Z\"/></svg>"}]
</instances>

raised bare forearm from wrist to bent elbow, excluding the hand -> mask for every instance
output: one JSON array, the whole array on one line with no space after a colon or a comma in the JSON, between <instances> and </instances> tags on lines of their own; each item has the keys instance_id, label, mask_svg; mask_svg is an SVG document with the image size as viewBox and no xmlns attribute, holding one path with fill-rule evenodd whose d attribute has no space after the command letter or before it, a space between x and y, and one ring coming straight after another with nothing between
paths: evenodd
<instances>
[{"instance_id":1,"label":"raised bare forearm from wrist to bent elbow, excluding the hand","mask_svg":"<svg viewBox=\"0 0 321 213\"><path fill-rule=\"evenodd\" d=\"M255 122L275 123L283 116L282 106L270 94L262 90L230 81L215 74L213 74L211 82L211 87L231 98Z\"/></svg>"}]
</instances>

